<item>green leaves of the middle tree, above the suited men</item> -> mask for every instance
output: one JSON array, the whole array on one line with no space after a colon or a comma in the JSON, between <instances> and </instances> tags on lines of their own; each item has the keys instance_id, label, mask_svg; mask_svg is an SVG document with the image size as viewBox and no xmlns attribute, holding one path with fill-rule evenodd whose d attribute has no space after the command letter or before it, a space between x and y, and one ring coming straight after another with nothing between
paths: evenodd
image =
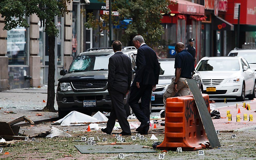
<instances>
[{"instance_id":1,"label":"green leaves of the middle tree, above the suited men","mask_svg":"<svg viewBox=\"0 0 256 160\"><path fill-rule=\"evenodd\" d=\"M125 34L122 41L130 41L135 35L142 35L145 42L150 45L157 45L161 35L164 33L161 25L162 13L169 13L169 0L114 0L112 1L113 11L118 11L119 16L112 15L113 25L119 25L124 19L132 19L132 23L121 25ZM102 15L103 21L95 20L95 17L88 13L88 28L108 29L108 15ZM106 25L103 27L103 23Z\"/></svg>"}]
</instances>

